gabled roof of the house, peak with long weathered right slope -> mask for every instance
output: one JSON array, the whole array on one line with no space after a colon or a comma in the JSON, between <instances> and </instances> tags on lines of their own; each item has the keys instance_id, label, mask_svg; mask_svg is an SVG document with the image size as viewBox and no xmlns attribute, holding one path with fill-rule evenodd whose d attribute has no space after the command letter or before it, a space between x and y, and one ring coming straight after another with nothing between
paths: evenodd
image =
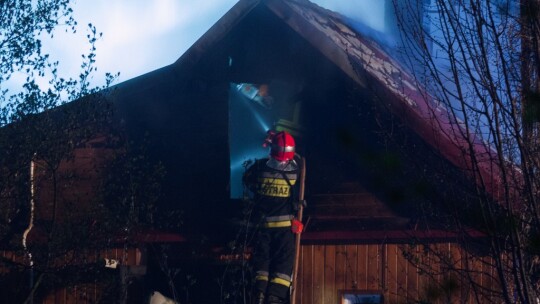
<instances>
[{"instance_id":1,"label":"gabled roof of the house, peak with long weathered right slope","mask_svg":"<svg viewBox=\"0 0 540 304\"><path fill-rule=\"evenodd\" d=\"M358 85L377 94L385 107L444 158L479 185L485 185L495 199L502 197L500 168L493 162L496 152L478 137L471 136L461 122L453 119L376 41L347 25L342 15L307 0L240 0L173 64L175 69L195 66L257 6L266 6ZM466 156L471 141L478 170Z\"/></svg>"}]
</instances>

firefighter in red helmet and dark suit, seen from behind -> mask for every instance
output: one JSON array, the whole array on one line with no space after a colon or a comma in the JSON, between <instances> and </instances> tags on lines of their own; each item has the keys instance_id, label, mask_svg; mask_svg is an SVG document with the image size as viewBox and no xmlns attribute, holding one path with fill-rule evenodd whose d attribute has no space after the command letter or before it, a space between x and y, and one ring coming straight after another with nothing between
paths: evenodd
<instances>
[{"instance_id":1,"label":"firefighter in red helmet and dark suit, seen from behind","mask_svg":"<svg viewBox=\"0 0 540 304\"><path fill-rule=\"evenodd\" d=\"M256 160L245 172L244 183L253 193L257 237L253 252L255 271L252 303L286 303L292 282L294 233L302 223L295 220L298 202L295 184L298 165L294 138L287 132L268 132L263 146L270 157Z\"/></svg>"}]
</instances>

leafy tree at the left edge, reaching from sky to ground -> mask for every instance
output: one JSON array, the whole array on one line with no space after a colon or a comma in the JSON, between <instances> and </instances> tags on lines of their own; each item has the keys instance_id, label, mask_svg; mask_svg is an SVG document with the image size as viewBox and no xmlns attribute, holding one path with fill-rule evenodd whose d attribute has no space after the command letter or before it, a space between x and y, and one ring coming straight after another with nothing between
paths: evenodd
<instances>
[{"instance_id":1,"label":"leafy tree at the left edge, reaching from sky to ground","mask_svg":"<svg viewBox=\"0 0 540 304\"><path fill-rule=\"evenodd\" d=\"M105 212L98 204L78 210L81 198L66 194L66 189L83 178L66 163L76 158L76 149L92 145L110 128L113 113L105 96L118 74L107 73L102 87L90 85L96 70L96 42L101 37L92 24L88 25L89 50L82 55L76 78L60 77L60 63L42 52L42 39L53 38L56 30L76 32L72 13L69 0L0 2L0 244L24 256L22 261L0 261L0 268L10 270L2 277L4 283L13 282L13 278L24 282L2 294L3 299L13 302L31 301L40 284L54 278L58 282L67 275L72 284L88 278L90 268L74 272L68 269L69 263L58 264L57 259L96 247L96 240L102 240L98 236L108 229L89 229L99 226L93 219ZM7 84L21 73L25 75L22 87L11 92ZM39 85L44 80L46 88ZM91 169L97 172L99 168ZM39 197L33 189L39 185L46 189L42 195L47 196L43 201L52 210L48 215L34 210ZM85 217L80 216L83 211ZM37 235L34 238L45 242L26 242L31 230ZM73 258L70 262L80 261ZM30 284L28 271L33 278Z\"/></svg>"}]
</instances>

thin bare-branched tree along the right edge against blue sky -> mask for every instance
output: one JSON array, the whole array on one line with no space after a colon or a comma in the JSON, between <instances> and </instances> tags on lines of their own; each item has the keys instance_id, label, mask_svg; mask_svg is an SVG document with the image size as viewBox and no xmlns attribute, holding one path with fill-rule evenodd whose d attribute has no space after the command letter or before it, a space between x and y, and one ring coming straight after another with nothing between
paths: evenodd
<instances>
[{"instance_id":1,"label":"thin bare-branched tree along the right edge against blue sky","mask_svg":"<svg viewBox=\"0 0 540 304\"><path fill-rule=\"evenodd\" d=\"M393 2L402 61L419 89L430 92L426 94L430 102L436 101L450 116L454 131L449 136L464 139L461 157L476 185L470 206L446 210L454 215L446 224L463 232L473 227L487 239L482 244L464 239L468 253L460 257L433 246L430 256L447 261L445 271L469 286L475 300L495 296L506 303L536 302L540 297L540 2ZM426 218L438 216L432 212ZM438 273L429 266L433 264L419 262L419 255L406 254L423 273ZM488 267L479 268L481 264ZM496 271L492 275L489 269ZM483 286L479 275L498 283Z\"/></svg>"}]
</instances>

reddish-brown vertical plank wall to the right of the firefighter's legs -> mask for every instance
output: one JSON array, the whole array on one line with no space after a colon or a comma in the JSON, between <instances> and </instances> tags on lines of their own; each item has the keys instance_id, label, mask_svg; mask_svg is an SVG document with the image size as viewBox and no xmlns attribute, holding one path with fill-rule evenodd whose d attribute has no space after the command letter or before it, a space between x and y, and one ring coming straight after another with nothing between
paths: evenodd
<instances>
[{"instance_id":1,"label":"reddish-brown vertical plank wall to the right of the firefighter's legs","mask_svg":"<svg viewBox=\"0 0 540 304\"><path fill-rule=\"evenodd\" d=\"M449 269L469 269L470 280ZM384 303L493 303L494 271L453 243L302 245L296 303L339 303L342 290L379 291Z\"/></svg>"}]
</instances>

